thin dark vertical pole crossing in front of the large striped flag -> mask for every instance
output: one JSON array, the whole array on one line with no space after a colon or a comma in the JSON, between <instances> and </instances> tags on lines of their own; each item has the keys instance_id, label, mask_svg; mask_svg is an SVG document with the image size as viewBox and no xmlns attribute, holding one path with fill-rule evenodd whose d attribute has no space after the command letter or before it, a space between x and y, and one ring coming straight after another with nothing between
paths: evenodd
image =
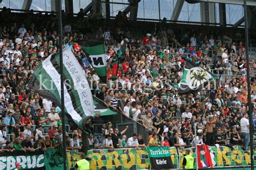
<instances>
[{"instance_id":1,"label":"thin dark vertical pole crossing in front of the large striped flag","mask_svg":"<svg viewBox=\"0 0 256 170\"><path fill-rule=\"evenodd\" d=\"M58 0L58 32L59 32L59 62L60 62L60 96L62 110L62 146L63 164L66 170L66 121L65 121L65 101L64 101L64 73L63 73L63 54L62 54L62 0Z\"/></svg>"}]
</instances>

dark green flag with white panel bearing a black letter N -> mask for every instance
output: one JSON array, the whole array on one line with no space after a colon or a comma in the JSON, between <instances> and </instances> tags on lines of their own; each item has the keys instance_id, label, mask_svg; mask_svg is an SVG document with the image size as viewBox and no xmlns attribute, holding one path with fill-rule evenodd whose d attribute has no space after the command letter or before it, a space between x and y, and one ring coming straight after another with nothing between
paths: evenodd
<instances>
[{"instance_id":1,"label":"dark green flag with white panel bearing a black letter N","mask_svg":"<svg viewBox=\"0 0 256 170\"><path fill-rule=\"evenodd\" d=\"M89 62L99 76L106 83L106 50L103 39L90 39L78 41L84 52L89 54Z\"/></svg>"}]
</instances>

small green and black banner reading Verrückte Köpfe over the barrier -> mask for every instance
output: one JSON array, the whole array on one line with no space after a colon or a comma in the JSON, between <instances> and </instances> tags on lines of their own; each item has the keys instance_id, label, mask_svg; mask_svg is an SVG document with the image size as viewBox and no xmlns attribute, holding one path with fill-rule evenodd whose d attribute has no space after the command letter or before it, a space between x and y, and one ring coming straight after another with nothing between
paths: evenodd
<instances>
[{"instance_id":1,"label":"small green and black banner reading Verr\u00fcckte K\u00f6pfe over the barrier","mask_svg":"<svg viewBox=\"0 0 256 170\"><path fill-rule=\"evenodd\" d=\"M169 147L147 147L152 168L167 169L173 168Z\"/></svg>"}]
</instances>

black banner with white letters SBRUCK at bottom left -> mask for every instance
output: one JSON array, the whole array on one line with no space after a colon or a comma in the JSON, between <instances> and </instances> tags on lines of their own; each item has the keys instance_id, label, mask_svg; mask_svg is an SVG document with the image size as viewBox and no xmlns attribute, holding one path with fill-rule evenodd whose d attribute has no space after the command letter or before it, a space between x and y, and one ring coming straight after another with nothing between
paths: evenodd
<instances>
[{"instance_id":1,"label":"black banner with white letters SBRUCK at bottom left","mask_svg":"<svg viewBox=\"0 0 256 170\"><path fill-rule=\"evenodd\" d=\"M1 152L0 169L15 169L15 164L22 164L22 169L45 169L44 152Z\"/></svg>"}]
</instances>

